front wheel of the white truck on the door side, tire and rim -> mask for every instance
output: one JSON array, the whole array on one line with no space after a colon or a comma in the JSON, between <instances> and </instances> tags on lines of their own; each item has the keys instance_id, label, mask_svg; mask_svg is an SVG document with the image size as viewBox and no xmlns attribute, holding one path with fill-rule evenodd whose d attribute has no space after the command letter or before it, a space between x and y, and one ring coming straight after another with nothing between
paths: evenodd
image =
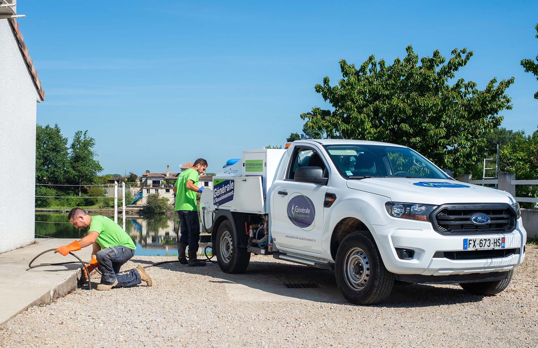
<instances>
[{"instance_id":1,"label":"front wheel of the white truck on the door side, tire and rim","mask_svg":"<svg viewBox=\"0 0 538 348\"><path fill-rule=\"evenodd\" d=\"M346 236L336 251L336 284L344 298L353 304L376 304L386 300L394 286L394 274L367 231Z\"/></svg>"}]
</instances>

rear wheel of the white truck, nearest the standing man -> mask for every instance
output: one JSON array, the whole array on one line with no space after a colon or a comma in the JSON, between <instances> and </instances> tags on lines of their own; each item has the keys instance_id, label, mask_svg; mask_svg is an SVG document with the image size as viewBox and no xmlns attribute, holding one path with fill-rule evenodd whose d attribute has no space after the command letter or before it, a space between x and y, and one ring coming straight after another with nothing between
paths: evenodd
<instances>
[{"instance_id":1,"label":"rear wheel of the white truck, nearest the standing man","mask_svg":"<svg viewBox=\"0 0 538 348\"><path fill-rule=\"evenodd\" d=\"M237 248L230 221L223 221L217 230L216 255L224 273L243 273L249 266L250 252Z\"/></svg>"}]
</instances>

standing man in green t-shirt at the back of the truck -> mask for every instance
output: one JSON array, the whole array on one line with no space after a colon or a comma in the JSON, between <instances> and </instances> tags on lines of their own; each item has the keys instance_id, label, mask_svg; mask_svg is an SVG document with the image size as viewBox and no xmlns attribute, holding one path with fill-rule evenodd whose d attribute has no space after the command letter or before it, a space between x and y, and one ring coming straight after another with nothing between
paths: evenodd
<instances>
[{"instance_id":1,"label":"standing man in green t-shirt at the back of the truck","mask_svg":"<svg viewBox=\"0 0 538 348\"><path fill-rule=\"evenodd\" d=\"M198 177L206 171L207 161L198 158L192 168L183 171L174 184L175 210L178 212L181 237L178 238L178 259L183 265L205 266L206 263L196 258L200 240L200 220L196 207L196 192L202 193L203 186L198 187ZM185 250L189 246L189 260Z\"/></svg>"}]
</instances>

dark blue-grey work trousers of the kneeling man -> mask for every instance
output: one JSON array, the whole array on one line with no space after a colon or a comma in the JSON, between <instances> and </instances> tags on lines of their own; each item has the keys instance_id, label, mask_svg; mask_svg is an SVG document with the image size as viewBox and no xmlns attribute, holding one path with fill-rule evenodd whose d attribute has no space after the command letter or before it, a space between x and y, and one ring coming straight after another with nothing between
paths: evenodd
<instances>
[{"instance_id":1,"label":"dark blue-grey work trousers of the kneeling man","mask_svg":"<svg viewBox=\"0 0 538 348\"><path fill-rule=\"evenodd\" d=\"M125 245L110 246L97 251L97 268L101 271L101 284L114 284L116 279L118 285L115 287L137 286L142 282L140 273L136 269L126 273L118 274L122 265L129 261L134 255L134 250Z\"/></svg>"}]
</instances>

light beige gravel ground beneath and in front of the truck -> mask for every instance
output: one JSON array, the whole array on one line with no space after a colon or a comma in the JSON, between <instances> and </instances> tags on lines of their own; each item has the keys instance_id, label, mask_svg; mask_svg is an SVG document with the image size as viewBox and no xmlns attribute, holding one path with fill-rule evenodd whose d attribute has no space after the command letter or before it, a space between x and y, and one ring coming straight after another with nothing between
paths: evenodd
<instances>
[{"instance_id":1,"label":"light beige gravel ground beneath and in front of the truck","mask_svg":"<svg viewBox=\"0 0 538 348\"><path fill-rule=\"evenodd\" d=\"M135 256L124 268L168 259L173 258ZM316 282L321 288L308 291L320 299L335 292L331 272L271 257L252 257L244 274L225 274L214 264L171 263L147 271L153 287L77 289L30 308L0 327L0 346L538 346L538 247L533 245L527 245L511 285L498 295L483 298L452 285L396 286L387 303L370 307L343 299L304 300L303 289L283 290L286 301L229 296L237 284L249 292L253 287L271 292L283 282Z\"/></svg>"}]
</instances>

